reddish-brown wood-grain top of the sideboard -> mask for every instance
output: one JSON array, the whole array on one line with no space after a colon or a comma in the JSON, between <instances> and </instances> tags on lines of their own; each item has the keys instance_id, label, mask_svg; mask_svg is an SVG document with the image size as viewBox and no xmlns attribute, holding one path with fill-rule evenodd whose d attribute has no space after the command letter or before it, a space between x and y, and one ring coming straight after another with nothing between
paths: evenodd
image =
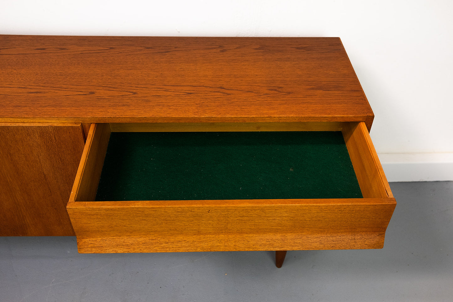
<instances>
[{"instance_id":1,"label":"reddish-brown wood-grain top of the sideboard","mask_svg":"<svg viewBox=\"0 0 453 302\"><path fill-rule=\"evenodd\" d=\"M339 38L0 35L0 108L0 122L374 117Z\"/></svg>"}]
</instances>

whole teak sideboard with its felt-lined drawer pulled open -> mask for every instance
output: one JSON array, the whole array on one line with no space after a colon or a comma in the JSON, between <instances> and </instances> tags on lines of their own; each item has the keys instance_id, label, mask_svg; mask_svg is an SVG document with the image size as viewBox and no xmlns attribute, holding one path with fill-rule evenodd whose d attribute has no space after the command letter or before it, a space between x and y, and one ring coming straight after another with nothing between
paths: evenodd
<instances>
[{"instance_id":1,"label":"whole teak sideboard with its felt-lined drawer pulled open","mask_svg":"<svg viewBox=\"0 0 453 302\"><path fill-rule=\"evenodd\" d=\"M339 38L0 35L0 235L382 248L373 118Z\"/></svg>"}]
</instances>

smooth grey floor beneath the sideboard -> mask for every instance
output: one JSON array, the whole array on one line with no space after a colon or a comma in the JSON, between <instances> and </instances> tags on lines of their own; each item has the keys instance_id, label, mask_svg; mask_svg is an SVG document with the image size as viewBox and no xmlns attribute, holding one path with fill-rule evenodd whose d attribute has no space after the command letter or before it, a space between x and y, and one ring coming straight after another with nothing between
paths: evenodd
<instances>
[{"instance_id":1,"label":"smooth grey floor beneath the sideboard","mask_svg":"<svg viewBox=\"0 0 453 302\"><path fill-rule=\"evenodd\" d=\"M379 250L79 254L0 237L0 301L453 301L453 182L391 183Z\"/></svg>"}]
</instances>

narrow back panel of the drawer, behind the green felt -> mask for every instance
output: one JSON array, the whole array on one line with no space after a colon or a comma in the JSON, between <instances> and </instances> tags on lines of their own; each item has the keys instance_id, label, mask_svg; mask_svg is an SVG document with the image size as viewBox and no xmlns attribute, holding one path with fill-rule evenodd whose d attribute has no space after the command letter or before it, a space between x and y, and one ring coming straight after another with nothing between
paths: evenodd
<instances>
[{"instance_id":1,"label":"narrow back panel of the drawer, behind the green felt","mask_svg":"<svg viewBox=\"0 0 453 302\"><path fill-rule=\"evenodd\" d=\"M112 132L341 131L342 122L111 123Z\"/></svg>"}]
</instances>

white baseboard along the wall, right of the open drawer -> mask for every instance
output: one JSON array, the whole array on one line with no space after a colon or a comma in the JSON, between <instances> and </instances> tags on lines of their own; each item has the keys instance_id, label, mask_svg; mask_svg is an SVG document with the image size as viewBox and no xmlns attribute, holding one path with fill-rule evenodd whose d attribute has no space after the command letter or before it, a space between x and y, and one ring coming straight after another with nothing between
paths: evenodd
<instances>
[{"instance_id":1,"label":"white baseboard along the wall, right of the open drawer","mask_svg":"<svg viewBox=\"0 0 453 302\"><path fill-rule=\"evenodd\" d=\"M448 153L379 153L387 180L453 180L453 152Z\"/></svg>"}]
</instances>

